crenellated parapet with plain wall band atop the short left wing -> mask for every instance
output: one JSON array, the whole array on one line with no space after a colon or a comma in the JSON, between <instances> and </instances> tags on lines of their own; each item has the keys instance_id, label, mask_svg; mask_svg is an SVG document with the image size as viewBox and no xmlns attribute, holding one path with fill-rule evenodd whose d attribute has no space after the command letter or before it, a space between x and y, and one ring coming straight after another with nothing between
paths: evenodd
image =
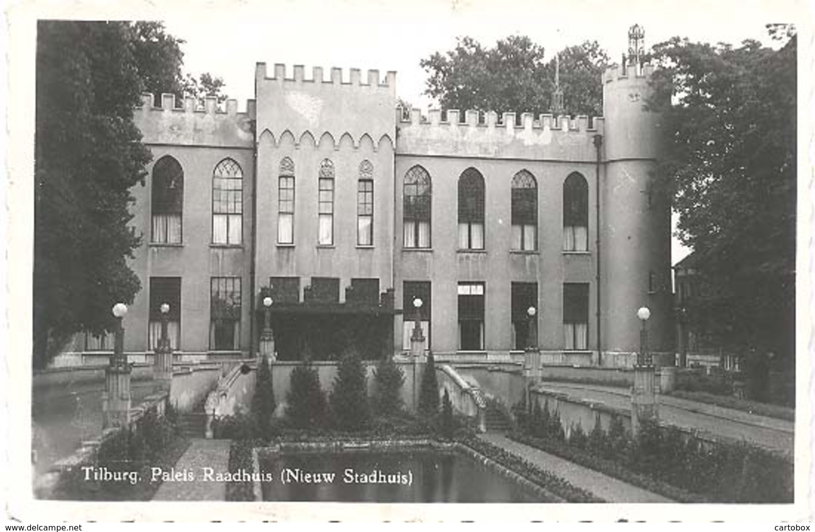
<instances>
[{"instance_id":1,"label":"crenellated parapet with plain wall band atop the short left wing","mask_svg":"<svg viewBox=\"0 0 815 532\"><path fill-rule=\"evenodd\" d=\"M248 100L246 111L228 99L223 108L218 98L184 98L176 106L174 94L161 94L161 105L153 104L152 94L142 94L142 104L134 111L143 142L180 146L252 147L255 102Z\"/></svg>"}]
</instances>

